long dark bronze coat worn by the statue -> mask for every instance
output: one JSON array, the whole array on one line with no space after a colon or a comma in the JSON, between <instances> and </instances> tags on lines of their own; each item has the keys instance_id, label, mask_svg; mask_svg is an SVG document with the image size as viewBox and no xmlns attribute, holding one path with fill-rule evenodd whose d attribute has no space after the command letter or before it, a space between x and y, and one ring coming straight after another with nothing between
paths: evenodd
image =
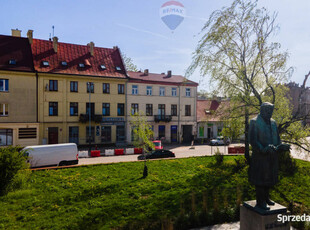
<instances>
[{"instance_id":1,"label":"long dark bronze coat worn by the statue","mask_svg":"<svg viewBox=\"0 0 310 230\"><path fill-rule=\"evenodd\" d=\"M260 115L251 119L249 142L252 146L249 182L256 186L275 185L278 182L278 153L267 153L266 147L281 144L276 122L270 119L268 124Z\"/></svg>"}]
</instances>

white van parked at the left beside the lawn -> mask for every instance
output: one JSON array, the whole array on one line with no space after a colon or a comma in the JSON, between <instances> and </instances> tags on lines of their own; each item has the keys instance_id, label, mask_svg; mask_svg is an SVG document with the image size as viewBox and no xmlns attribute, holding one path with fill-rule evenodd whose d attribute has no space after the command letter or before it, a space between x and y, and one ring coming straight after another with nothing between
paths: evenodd
<instances>
[{"instance_id":1,"label":"white van parked at the left beside the lawn","mask_svg":"<svg viewBox=\"0 0 310 230\"><path fill-rule=\"evenodd\" d=\"M76 144L34 145L24 148L29 156L30 167L63 166L78 164Z\"/></svg>"}]
</instances>

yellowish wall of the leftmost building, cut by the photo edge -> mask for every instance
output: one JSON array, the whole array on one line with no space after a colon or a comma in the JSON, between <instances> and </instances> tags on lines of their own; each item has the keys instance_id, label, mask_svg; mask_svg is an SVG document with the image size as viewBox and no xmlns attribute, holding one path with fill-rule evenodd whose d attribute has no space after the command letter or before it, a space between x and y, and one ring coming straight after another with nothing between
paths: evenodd
<instances>
[{"instance_id":1,"label":"yellowish wall of the leftmost building, cut by the photo edge","mask_svg":"<svg viewBox=\"0 0 310 230\"><path fill-rule=\"evenodd\" d=\"M36 145L39 143L39 124L36 108L36 76L34 73L0 71L0 79L8 80L8 91L0 92L0 104L8 105L8 116L0 116L0 146ZM2 113L2 111L1 111ZM30 137L22 135L22 129L34 129ZM4 135L10 131L9 137Z\"/></svg>"}]
</instances>

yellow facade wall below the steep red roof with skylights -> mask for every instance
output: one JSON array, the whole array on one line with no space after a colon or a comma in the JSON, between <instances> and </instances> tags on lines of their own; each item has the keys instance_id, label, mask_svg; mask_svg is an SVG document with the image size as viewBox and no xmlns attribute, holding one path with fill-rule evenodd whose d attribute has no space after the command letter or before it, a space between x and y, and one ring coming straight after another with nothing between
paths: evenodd
<instances>
[{"instance_id":1,"label":"yellow facade wall below the steep red roof with skylights","mask_svg":"<svg viewBox=\"0 0 310 230\"><path fill-rule=\"evenodd\" d=\"M58 91L49 91L49 80L58 80ZM70 92L70 81L78 82L78 92ZM94 93L87 93L87 82L94 83ZM103 83L110 84L110 93L103 93ZM79 129L79 144L87 144L86 127L89 126L88 119L82 123L79 121L80 114L86 114L86 103L95 104L95 115L102 116L102 103L110 103L110 116L105 118L125 116L117 115L117 104L125 104L125 93L118 94L118 84L124 84L126 79L100 78L89 76L39 74L39 122L40 141L48 143L49 128L58 128L58 142L69 142L69 127L74 126ZM49 102L58 102L58 116L49 116ZM70 102L78 103L78 116L70 116ZM95 136L95 144L101 144L101 126L111 126L111 143L116 142L116 126L109 123L91 121L91 126L99 126L99 136Z\"/></svg>"}]
</instances>

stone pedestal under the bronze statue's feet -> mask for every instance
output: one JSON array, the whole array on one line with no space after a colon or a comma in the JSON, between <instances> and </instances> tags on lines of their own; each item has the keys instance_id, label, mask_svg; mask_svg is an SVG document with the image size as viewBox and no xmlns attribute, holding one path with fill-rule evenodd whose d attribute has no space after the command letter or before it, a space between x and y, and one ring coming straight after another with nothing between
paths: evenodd
<instances>
[{"instance_id":1,"label":"stone pedestal under the bronze statue's feet","mask_svg":"<svg viewBox=\"0 0 310 230\"><path fill-rule=\"evenodd\" d=\"M240 230L289 230L290 223L278 222L279 214L289 215L287 208L275 203L266 211L255 207L256 200L245 201L240 207Z\"/></svg>"}]
</instances>

